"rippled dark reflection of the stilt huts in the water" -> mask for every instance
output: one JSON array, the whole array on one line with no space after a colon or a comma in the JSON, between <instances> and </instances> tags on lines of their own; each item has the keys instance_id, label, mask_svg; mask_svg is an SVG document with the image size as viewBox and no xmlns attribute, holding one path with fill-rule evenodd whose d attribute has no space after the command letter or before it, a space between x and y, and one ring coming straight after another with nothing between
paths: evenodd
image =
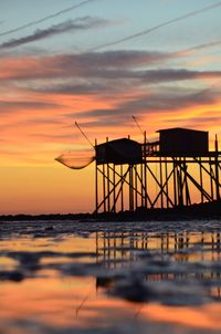
<instances>
[{"instance_id":1,"label":"rippled dark reflection of the stilt huts in the water","mask_svg":"<svg viewBox=\"0 0 221 334\"><path fill-rule=\"evenodd\" d=\"M220 232L98 232L96 251L102 253L102 261L108 270L124 268L126 263L131 267L127 282L118 272L98 276L96 281L97 288L113 289L116 284L114 291L122 298L183 305L204 303L206 296L221 300ZM161 284L152 293L156 284L144 284L144 281ZM190 293L186 291L187 286ZM196 291L202 299L196 295Z\"/></svg>"}]
</instances>

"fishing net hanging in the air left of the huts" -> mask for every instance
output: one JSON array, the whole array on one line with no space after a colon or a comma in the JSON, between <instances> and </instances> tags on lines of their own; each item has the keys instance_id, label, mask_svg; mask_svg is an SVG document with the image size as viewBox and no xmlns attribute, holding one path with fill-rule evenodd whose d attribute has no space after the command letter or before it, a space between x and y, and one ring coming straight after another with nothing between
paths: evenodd
<instances>
[{"instance_id":1,"label":"fishing net hanging in the air left of the huts","mask_svg":"<svg viewBox=\"0 0 221 334\"><path fill-rule=\"evenodd\" d=\"M92 152L78 153L67 152L55 158L56 161L72 169L82 169L94 161L95 157Z\"/></svg>"}]
</instances>

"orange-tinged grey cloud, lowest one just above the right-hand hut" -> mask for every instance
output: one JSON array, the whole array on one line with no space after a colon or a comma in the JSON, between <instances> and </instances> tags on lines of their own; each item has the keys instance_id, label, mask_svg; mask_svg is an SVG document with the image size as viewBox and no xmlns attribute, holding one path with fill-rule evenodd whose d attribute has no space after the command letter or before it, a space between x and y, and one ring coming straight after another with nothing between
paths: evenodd
<instances>
[{"instance_id":1,"label":"orange-tinged grey cloud, lowest one just above the right-hand hut","mask_svg":"<svg viewBox=\"0 0 221 334\"><path fill-rule=\"evenodd\" d=\"M220 92L204 92L199 95L199 92L191 90L167 88L164 92L156 91L147 95L138 95L129 101L120 101L115 107L91 109L74 115L66 115L67 117L76 117L80 119L91 119L87 126L104 126L113 125L115 123L126 124L131 115L144 115L152 117L157 114L168 114L181 111L189 107L200 107L213 104L219 101Z\"/></svg>"}]
</instances>

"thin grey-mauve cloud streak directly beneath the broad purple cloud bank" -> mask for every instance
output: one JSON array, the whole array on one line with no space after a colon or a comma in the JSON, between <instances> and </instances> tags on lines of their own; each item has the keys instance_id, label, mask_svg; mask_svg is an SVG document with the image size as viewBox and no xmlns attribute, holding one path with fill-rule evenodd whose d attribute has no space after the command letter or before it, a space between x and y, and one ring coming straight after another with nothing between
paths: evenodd
<instances>
[{"instance_id":1,"label":"thin grey-mauve cloud streak directly beneath the broad purple cloud bank","mask_svg":"<svg viewBox=\"0 0 221 334\"><path fill-rule=\"evenodd\" d=\"M102 73L101 77L96 79L75 79L74 82L66 81L65 83L50 82L42 84L39 87L33 87L33 91L41 93L65 94L65 95L116 95L119 96L128 90L143 88L157 85L159 83L175 83L186 81L200 81L221 79L221 72L200 72L200 71L186 71L186 70L150 70L150 71L135 71L117 72L115 75L109 75L108 72ZM85 75L85 73L84 73ZM199 91L199 95L203 95L204 91L210 91L210 87Z\"/></svg>"}]
</instances>

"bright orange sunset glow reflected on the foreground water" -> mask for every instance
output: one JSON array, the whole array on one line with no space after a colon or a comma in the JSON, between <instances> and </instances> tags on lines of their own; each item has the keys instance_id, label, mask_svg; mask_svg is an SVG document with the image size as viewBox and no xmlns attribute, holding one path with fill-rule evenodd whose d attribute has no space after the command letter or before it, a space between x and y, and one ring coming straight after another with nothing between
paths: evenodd
<instances>
[{"instance_id":1,"label":"bright orange sunset glow reflected on the foreground water","mask_svg":"<svg viewBox=\"0 0 221 334\"><path fill-rule=\"evenodd\" d=\"M135 233L137 236L137 233ZM138 236L137 236L138 237ZM141 236L139 236L141 238ZM183 238L188 237L183 232ZM99 237L98 237L99 238ZM102 237L101 237L102 238ZM138 240L140 239L138 238ZM201 234L189 234L189 240L194 243L198 242ZM210 241L211 234L203 234L204 242ZM1 250L11 250L13 243L13 251L22 252L94 252L96 251L95 234L90 238L81 237L66 237L63 236L59 239L51 238L35 238L34 242L32 237L29 238L13 238L11 240L3 240ZM122 240L119 234L118 242ZM127 240L127 238L126 238ZM141 242L140 239L138 242ZM155 233L149 234L148 248L159 251L160 238L156 238ZM102 241L102 239L101 239ZM118 244L116 242L115 247ZM113 238L109 239L112 244L110 252L113 251ZM120 244L120 243L119 243ZM103 246L98 246L102 252ZM137 244L139 247L139 244ZM173 237L169 237L169 249L175 249ZM118 251L119 252L119 251ZM211 252L208 260L211 260ZM116 258L117 259L117 258ZM130 259L129 252L124 258ZM72 259L78 263L93 263L96 261L94 258L87 255L81 259ZM135 260L134 260L135 261ZM176 261L179 262L179 259ZM189 261L189 260L186 260ZM15 265L10 259L3 259L3 265ZM71 259L64 258L48 258L41 261L41 265L60 263L69 265ZM87 265L87 264L86 264ZM9 268L9 267L8 267ZM160 281L160 276L158 278ZM172 280L172 278L171 278ZM156 281L157 282L157 281ZM22 301L22 302L21 302ZM1 326L0 330L10 333L7 326L12 326L17 333L18 324L29 322L38 322L40 325L66 328L66 327L81 327L93 328L103 326L131 326L143 330L155 331L157 325L159 331L166 326L166 333L175 330L176 333L186 331L219 331L221 330L219 303L208 303L199 306L167 306L156 302L149 303L133 303L125 300L114 298L105 292L105 288L99 288L96 282L96 276L69 276L60 273L55 269L42 269L36 276L27 278L20 283L1 282L0 286L0 303L1 303ZM14 322L14 324L13 324ZM18 322L18 323L17 323ZM6 327L4 327L6 326ZM126 327L125 327L126 328ZM29 333L29 330L23 327L23 333ZM157 332L158 333L158 332ZM160 333L160 332L159 332Z\"/></svg>"}]
</instances>

